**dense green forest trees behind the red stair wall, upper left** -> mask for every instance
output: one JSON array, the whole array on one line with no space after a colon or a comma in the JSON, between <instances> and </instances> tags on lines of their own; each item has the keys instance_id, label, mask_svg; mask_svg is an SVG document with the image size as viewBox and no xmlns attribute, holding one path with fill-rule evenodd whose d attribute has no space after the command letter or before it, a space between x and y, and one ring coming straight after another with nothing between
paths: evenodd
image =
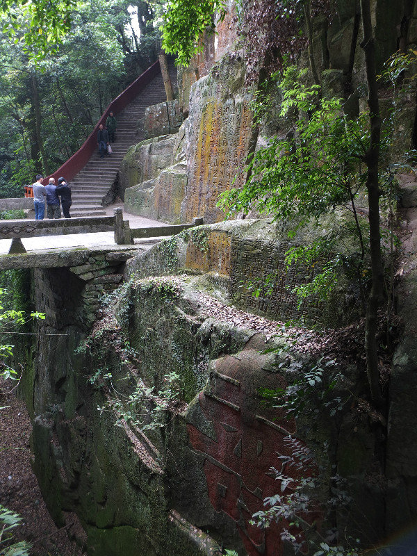
<instances>
[{"instance_id":1,"label":"dense green forest trees behind the red stair wall, upper left","mask_svg":"<svg viewBox=\"0 0 417 556\"><path fill-rule=\"evenodd\" d=\"M34 174L62 165L109 101L158 54L154 10L145 1L49 5L42 19L27 6L1 4L8 8L0 20L1 197L21 196ZM61 10L59 33L47 23L54 7ZM42 40L33 37L34 26L43 29Z\"/></svg>"}]
</instances>

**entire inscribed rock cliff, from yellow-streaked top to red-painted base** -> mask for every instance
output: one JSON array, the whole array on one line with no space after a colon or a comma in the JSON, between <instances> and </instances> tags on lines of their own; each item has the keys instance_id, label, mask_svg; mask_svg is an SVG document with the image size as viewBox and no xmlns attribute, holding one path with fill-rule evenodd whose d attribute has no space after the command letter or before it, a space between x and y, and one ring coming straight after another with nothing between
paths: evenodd
<instances>
[{"instance_id":1,"label":"entire inscribed rock cliff, from yellow-streaked top to red-painted base","mask_svg":"<svg viewBox=\"0 0 417 556\"><path fill-rule=\"evenodd\" d=\"M416 42L411 4L373 2L379 65L399 42ZM288 131L277 113L259 132L252 128L253 90L245 85L245 60L236 47L234 3L228 6L218 46L206 41L190 68L181 69L186 121L178 133L133 147L120 177L129 212L173 223L199 216L211 224L164 241L125 268L122 259L92 255L71 270L33 271L35 309L47 313L36 344L22 352L34 467L57 523L65 524L66 512L78 514L90 555L215 556L222 548L239 556L284 554L286 523L262 530L250 518L266 496L281 490L270 468L279 467L280 457L293 457L286 436L309 445L328 475L352 485L346 507L313 514L322 528L335 526L343 536L372 543L417 517L412 257L398 290L406 335L394 359L388 429L361 400L363 361L338 368L343 379L335 396L342 402L331 418L322 398L297 420L261 403L261 387L284 386L321 364L305 347L309 339L283 322L302 316L346 324L355 297L347 284L327 305L311 302L300 311L291 288L307 271L284 268L285 226L220 223L217 197L244 183L248 154ZM352 113L364 96L355 6L341 0L331 24L320 17L314 22L325 94L344 93ZM300 63L306 65L304 54ZM406 104L407 116L393 129L398 152L414 140L414 97ZM411 208L414 189L409 184ZM407 218L414 231L414 216ZM308 243L320 229L303 234L294 240ZM279 284L253 297L251 284L272 268L279 270ZM101 272L114 274L114 284L122 275L125 281L104 302L99 293L113 290L113 282L102 281ZM267 318L281 321L279 336ZM291 493L288 485L282 490Z\"/></svg>"}]
</instances>

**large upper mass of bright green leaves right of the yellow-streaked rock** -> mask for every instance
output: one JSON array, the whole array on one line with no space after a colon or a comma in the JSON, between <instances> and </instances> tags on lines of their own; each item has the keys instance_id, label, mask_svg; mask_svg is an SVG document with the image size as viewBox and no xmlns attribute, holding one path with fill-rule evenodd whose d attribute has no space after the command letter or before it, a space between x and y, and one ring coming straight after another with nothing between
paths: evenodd
<instances>
[{"instance_id":1,"label":"large upper mass of bright green leaves right of the yellow-streaked rock","mask_svg":"<svg viewBox=\"0 0 417 556\"><path fill-rule=\"evenodd\" d=\"M275 220L297 218L297 228L350 203L350 193L363 183L358 163L369 133L368 114L348 120L341 99L319 99L318 85L294 81L294 72L287 70L281 83L281 116L293 118L294 138L275 137L259 149L250 181L224 193L221 204L229 211L272 213Z\"/></svg>"}]
</instances>

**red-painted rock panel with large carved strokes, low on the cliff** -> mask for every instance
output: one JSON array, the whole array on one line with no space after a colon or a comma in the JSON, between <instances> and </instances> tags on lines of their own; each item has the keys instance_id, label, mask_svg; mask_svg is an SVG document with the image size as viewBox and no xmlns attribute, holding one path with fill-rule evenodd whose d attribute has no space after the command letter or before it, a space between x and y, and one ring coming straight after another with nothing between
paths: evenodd
<instances>
[{"instance_id":1,"label":"red-painted rock panel with large carved strokes, low on the cliff","mask_svg":"<svg viewBox=\"0 0 417 556\"><path fill-rule=\"evenodd\" d=\"M250 520L263 509L265 497L280 491L271 468L281 469L280 455L292 455L286 437L295 434L295 422L284 411L272 413L256 395L261 385L283 384L277 373L262 368L259 351L253 349L256 341L252 338L238 357L215 361L210 382L198 398L202 416L195 418L194 410L188 434L193 449L204 456L211 504L236 522L248 555L281 556L280 532L291 530L290 525L281 521L263 530ZM286 473L296 479L305 471L291 467ZM290 492L287 486L284 493Z\"/></svg>"}]
</instances>

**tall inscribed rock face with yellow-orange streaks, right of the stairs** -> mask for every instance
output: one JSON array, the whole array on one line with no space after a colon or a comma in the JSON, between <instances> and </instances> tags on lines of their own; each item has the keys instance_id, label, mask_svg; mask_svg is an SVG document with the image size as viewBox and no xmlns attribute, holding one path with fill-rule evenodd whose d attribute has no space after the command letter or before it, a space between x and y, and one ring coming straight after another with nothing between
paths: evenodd
<instances>
[{"instance_id":1,"label":"tall inscribed rock face with yellow-orange streaks, right of the stairs","mask_svg":"<svg viewBox=\"0 0 417 556\"><path fill-rule=\"evenodd\" d=\"M254 138L252 94L243 86L244 76L242 60L223 58L193 85L190 115L175 143L162 136L129 150L120 172L121 189L130 188L124 194L126 211L173 224L224 219L216 206L218 195L243 185ZM182 156L186 168L170 167L174 158L182 162Z\"/></svg>"}]
</instances>

